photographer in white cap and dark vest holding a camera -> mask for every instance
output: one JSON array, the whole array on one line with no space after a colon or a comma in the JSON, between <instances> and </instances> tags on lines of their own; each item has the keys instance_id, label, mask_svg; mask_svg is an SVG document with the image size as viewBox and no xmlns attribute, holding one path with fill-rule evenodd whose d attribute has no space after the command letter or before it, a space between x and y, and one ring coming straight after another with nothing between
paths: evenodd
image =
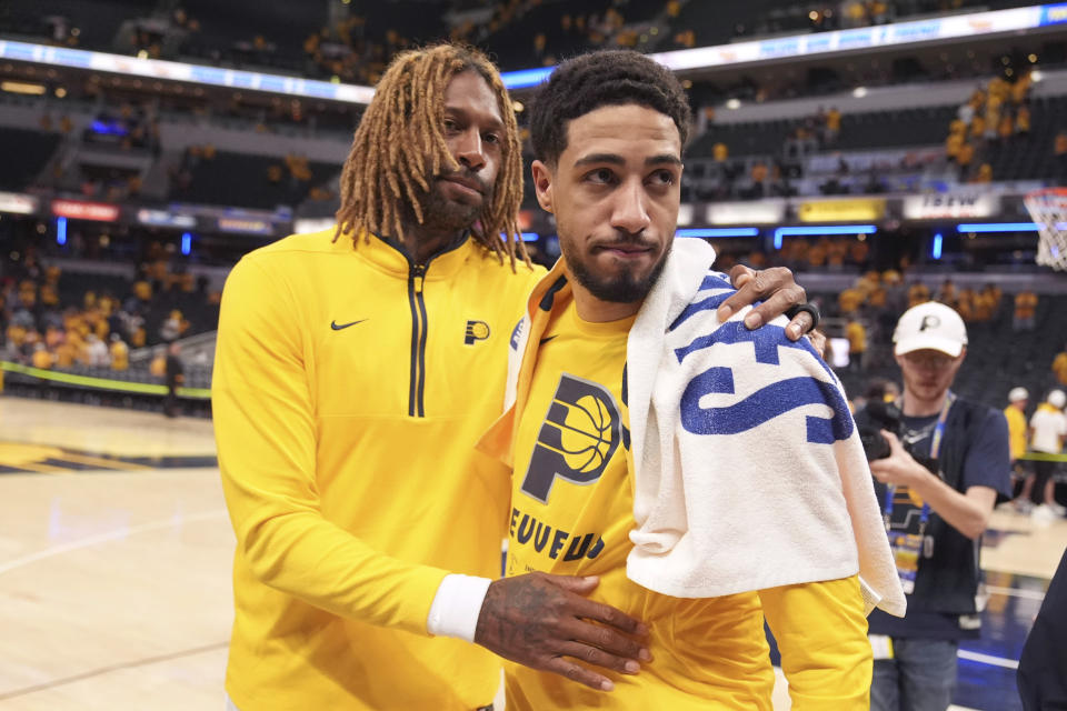
<instances>
[{"instance_id":1,"label":"photographer in white cap and dark vest holding a camera","mask_svg":"<svg viewBox=\"0 0 1067 711\"><path fill-rule=\"evenodd\" d=\"M1008 427L999 411L949 390L967 353L956 311L916 306L893 340L899 409L868 407L856 417L908 593L907 617L870 615L871 709L944 711L959 640L980 632L978 552L998 494L1010 493Z\"/></svg>"}]
</instances>

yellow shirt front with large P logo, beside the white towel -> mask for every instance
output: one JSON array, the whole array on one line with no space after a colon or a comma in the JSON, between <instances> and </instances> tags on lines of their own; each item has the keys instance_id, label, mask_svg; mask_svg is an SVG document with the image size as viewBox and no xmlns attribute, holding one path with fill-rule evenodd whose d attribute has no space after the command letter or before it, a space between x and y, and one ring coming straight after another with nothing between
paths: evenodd
<instances>
[{"instance_id":1,"label":"yellow shirt front with large P logo, beside the white towel","mask_svg":"<svg viewBox=\"0 0 1067 711\"><path fill-rule=\"evenodd\" d=\"M600 575L590 595L641 619L652 661L614 692L508 664L508 709L770 709L757 593L684 600L626 577L634 491L624 399L632 318L582 321L557 299L515 440L507 574ZM599 671L599 670L598 670Z\"/></svg>"}]
</instances>

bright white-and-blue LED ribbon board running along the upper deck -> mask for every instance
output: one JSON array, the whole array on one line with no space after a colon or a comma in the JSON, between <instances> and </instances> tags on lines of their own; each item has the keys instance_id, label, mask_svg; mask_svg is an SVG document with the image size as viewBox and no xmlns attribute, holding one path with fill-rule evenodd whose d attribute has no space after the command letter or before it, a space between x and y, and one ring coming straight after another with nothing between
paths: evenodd
<instances>
[{"instance_id":1,"label":"bright white-and-blue LED ribbon board running along the upper deck","mask_svg":"<svg viewBox=\"0 0 1067 711\"><path fill-rule=\"evenodd\" d=\"M801 57L831 56L904 44L976 38L1004 32L1034 30L1067 23L1067 2L971 12L943 18L914 20L875 27L798 34L716 47L700 47L651 54L675 71L690 71L752 62L781 61ZM238 90L366 104L375 94L372 87L332 83L298 77L255 71L186 64L160 59L90 52L66 47L0 40L0 59L68 67L131 77L146 77ZM536 87L552 72L552 67L503 72L508 89Z\"/></svg>"}]
</instances>

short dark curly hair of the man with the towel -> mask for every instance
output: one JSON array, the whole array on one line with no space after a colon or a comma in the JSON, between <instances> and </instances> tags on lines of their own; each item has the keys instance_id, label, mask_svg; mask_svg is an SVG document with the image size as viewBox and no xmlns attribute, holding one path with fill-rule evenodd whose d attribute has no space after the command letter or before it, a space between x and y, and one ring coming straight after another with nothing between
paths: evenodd
<instances>
[{"instance_id":1,"label":"short dark curly hair of the man with the towel","mask_svg":"<svg viewBox=\"0 0 1067 711\"><path fill-rule=\"evenodd\" d=\"M692 111L669 69L640 52L597 51L569 59L552 72L530 109L534 156L555 164L567 149L567 123L600 107L636 103L670 117L681 144Z\"/></svg>"}]
</instances>

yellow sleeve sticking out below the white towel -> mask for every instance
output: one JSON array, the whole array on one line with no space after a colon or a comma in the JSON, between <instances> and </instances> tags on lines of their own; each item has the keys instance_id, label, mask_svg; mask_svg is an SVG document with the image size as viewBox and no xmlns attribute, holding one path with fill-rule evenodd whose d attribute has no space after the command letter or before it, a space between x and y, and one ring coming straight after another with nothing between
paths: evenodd
<instances>
[{"instance_id":1,"label":"yellow sleeve sticking out below the white towel","mask_svg":"<svg viewBox=\"0 0 1067 711\"><path fill-rule=\"evenodd\" d=\"M867 711L872 654L859 578L759 591L794 711Z\"/></svg>"}]
</instances>

